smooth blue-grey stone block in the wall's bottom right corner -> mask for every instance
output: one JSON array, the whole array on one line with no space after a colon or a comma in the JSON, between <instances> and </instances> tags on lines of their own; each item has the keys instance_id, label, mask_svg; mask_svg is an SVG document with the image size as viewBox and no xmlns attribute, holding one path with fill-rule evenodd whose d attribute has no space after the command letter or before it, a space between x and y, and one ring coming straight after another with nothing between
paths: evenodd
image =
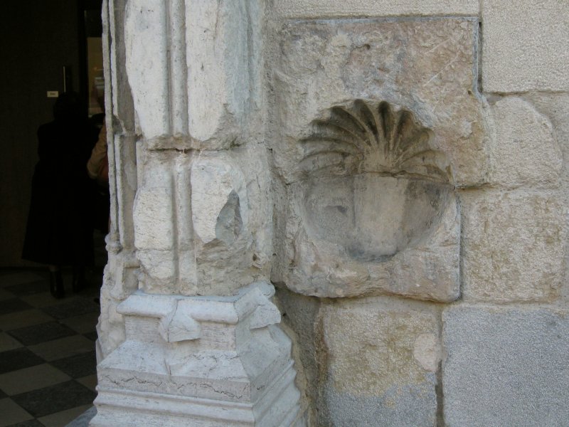
<instances>
[{"instance_id":1,"label":"smooth blue-grey stone block in the wall's bottom right corner","mask_svg":"<svg viewBox=\"0 0 569 427\"><path fill-rule=\"evenodd\" d=\"M529 308L445 310L447 426L565 426L568 315Z\"/></svg>"}]
</instances>

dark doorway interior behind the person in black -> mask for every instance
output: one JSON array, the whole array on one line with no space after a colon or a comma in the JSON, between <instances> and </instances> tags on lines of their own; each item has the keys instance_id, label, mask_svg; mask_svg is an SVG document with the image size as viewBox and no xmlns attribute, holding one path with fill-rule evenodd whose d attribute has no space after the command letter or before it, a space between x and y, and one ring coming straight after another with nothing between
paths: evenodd
<instances>
[{"instance_id":1,"label":"dark doorway interior behind the person in black","mask_svg":"<svg viewBox=\"0 0 569 427\"><path fill-rule=\"evenodd\" d=\"M87 35L101 31L100 19L95 19L101 4L102 0L2 4L0 268L32 265L20 255L38 160L36 130L51 120L55 93L72 89L87 99Z\"/></svg>"}]
</instances>

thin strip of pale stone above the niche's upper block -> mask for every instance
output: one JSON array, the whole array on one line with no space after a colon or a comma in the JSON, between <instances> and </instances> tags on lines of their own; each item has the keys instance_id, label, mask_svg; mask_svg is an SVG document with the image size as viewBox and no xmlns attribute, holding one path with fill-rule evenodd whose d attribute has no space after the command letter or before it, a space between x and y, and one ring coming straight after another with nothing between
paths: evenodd
<instances>
[{"instance_id":1,"label":"thin strip of pale stone above the niche's upper block","mask_svg":"<svg viewBox=\"0 0 569 427\"><path fill-rule=\"evenodd\" d=\"M478 3L469 0L280 0L271 17L322 18L326 16L478 15Z\"/></svg>"}]
</instances>

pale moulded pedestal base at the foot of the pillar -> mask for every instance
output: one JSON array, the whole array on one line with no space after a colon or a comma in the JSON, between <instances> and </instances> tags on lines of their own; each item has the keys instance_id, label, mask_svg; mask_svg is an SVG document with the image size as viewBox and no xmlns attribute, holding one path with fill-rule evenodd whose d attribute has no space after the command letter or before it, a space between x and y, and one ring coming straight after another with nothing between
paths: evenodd
<instances>
[{"instance_id":1,"label":"pale moulded pedestal base at the foot of the pillar","mask_svg":"<svg viewBox=\"0 0 569 427\"><path fill-rule=\"evenodd\" d=\"M90 426L304 425L274 292L128 297L118 307L127 339L98 366Z\"/></svg>"}]
</instances>

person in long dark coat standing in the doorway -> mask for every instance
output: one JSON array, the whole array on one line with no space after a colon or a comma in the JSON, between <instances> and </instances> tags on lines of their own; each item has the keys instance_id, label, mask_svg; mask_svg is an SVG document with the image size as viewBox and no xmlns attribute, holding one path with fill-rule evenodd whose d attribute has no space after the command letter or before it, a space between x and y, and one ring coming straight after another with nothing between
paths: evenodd
<instances>
[{"instance_id":1,"label":"person in long dark coat standing in the doorway","mask_svg":"<svg viewBox=\"0 0 569 427\"><path fill-rule=\"evenodd\" d=\"M73 266L73 290L85 286L92 263L92 184L85 163L97 142L75 93L63 93L53 122L38 129L39 162L32 179L31 204L22 258L47 264L50 292L65 296L61 267Z\"/></svg>"}]
</instances>

